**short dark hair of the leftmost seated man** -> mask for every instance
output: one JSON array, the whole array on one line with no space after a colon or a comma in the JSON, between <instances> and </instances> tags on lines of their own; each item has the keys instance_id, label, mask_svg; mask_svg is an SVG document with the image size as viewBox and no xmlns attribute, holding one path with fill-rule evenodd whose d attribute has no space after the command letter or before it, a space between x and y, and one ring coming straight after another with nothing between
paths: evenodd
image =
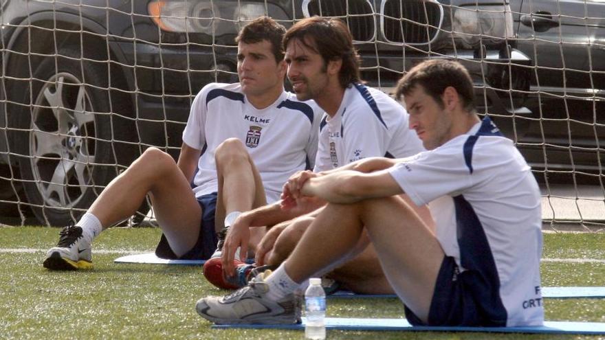
<instances>
[{"instance_id":1,"label":"short dark hair of the leftmost seated man","mask_svg":"<svg viewBox=\"0 0 605 340\"><path fill-rule=\"evenodd\" d=\"M254 44L263 40L269 41L275 61L279 63L285 53L281 43L285 33L283 25L268 16L261 16L246 24L236 36L235 42Z\"/></svg>"}]
</instances>

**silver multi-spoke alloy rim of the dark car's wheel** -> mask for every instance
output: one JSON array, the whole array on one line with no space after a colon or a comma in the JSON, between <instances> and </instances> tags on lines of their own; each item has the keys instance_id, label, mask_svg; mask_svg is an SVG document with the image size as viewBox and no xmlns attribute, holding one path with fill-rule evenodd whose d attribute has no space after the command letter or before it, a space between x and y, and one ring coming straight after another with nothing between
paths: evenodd
<instances>
[{"instance_id":1,"label":"silver multi-spoke alloy rim of the dark car's wheel","mask_svg":"<svg viewBox=\"0 0 605 340\"><path fill-rule=\"evenodd\" d=\"M74 207L94 185L96 123L85 85L71 73L45 82L32 107L30 163L44 205Z\"/></svg>"}]
</instances>

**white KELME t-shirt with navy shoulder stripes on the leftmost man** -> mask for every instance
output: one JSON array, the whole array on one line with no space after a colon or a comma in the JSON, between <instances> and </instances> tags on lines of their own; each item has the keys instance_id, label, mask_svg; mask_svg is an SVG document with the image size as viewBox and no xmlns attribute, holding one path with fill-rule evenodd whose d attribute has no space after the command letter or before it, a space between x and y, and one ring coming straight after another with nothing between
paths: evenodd
<instances>
[{"instance_id":1,"label":"white KELME t-shirt with navy shoulder stripes on the leftmost man","mask_svg":"<svg viewBox=\"0 0 605 340\"><path fill-rule=\"evenodd\" d=\"M283 92L265 109L256 109L236 84L208 84L195 97L183 141L204 150L193 179L195 196L218 190L214 151L235 137L246 146L261 173L267 203L278 201L294 172L312 167L317 152L321 111L315 102L299 102Z\"/></svg>"}]
</instances>

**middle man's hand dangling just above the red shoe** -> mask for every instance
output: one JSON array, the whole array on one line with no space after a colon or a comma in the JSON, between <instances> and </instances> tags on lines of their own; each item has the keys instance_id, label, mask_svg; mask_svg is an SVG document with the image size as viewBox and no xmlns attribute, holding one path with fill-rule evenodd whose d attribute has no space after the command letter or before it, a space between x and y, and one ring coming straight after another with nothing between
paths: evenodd
<instances>
[{"instance_id":1,"label":"middle man's hand dangling just above the red shoe","mask_svg":"<svg viewBox=\"0 0 605 340\"><path fill-rule=\"evenodd\" d=\"M248 256L248 242L250 240L250 223L248 223L245 213L241 214L235 223L229 228L229 232L223 243L223 254L221 261L223 262L223 273L230 277L235 273L235 252L238 247L241 247L240 258L245 261Z\"/></svg>"}]
</instances>

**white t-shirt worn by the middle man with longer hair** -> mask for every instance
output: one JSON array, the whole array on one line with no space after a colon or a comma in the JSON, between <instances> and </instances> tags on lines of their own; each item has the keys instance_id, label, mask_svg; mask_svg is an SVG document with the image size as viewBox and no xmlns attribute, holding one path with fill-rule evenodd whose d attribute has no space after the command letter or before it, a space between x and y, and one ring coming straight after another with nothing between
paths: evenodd
<instances>
[{"instance_id":1,"label":"white t-shirt worn by the middle man with longer hair","mask_svg":"<svg viewBox=\"0 0 605 340\"><path fill-rule=\"evenodd\" d=\"M351 84L336 115L320 125L315 172L331 170L366 157L409 157L423 151L408 128L408 113L385 93Z\"/></svg>"}]
</instances>

